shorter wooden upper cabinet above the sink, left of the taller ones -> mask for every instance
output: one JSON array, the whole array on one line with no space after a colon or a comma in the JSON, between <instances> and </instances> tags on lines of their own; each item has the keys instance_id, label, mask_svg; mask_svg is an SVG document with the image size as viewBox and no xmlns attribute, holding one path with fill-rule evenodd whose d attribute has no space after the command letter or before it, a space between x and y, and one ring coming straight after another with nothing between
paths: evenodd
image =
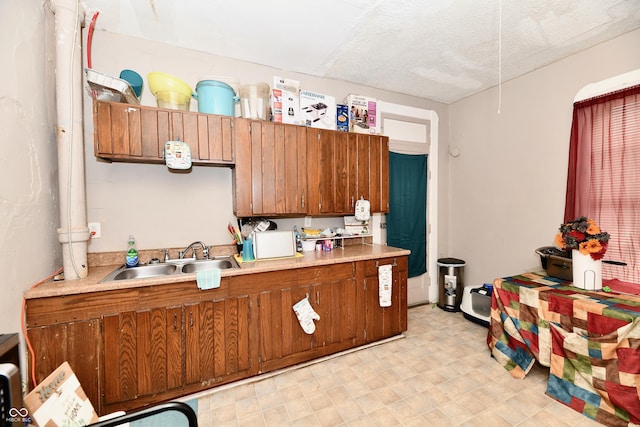
<instances>
[{"instance_id":1,"label":"shorter wooden upper cabinet above the sink, left of the taller ones","mask_svg":"<svg viewBox=\"0 0 640 427\"><path fill-rule=\"evenodd\" d=\"M233 118L94 101L94 152L112 161L164 163L166 141L185 141L194 164L233 165Z\"/></svg>"}]
</instances>

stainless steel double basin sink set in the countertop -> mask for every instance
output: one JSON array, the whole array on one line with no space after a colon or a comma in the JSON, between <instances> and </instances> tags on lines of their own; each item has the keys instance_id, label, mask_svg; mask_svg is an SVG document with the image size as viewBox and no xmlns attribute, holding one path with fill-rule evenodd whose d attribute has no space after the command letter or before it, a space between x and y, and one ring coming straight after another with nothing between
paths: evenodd
<instances>
[{"instance_id":1,"label":"stainless steel double basin sink set in the countertop","mask_svg":"<svg viewBox=\"0 0 640 427\"><path fill-rule=\"evenodd\" d=\"M233 257L215 257L205 260L176 260L158 264L145 264L127 268L122 265L109 273L100 283L119 280L147 279L150 277L164 277L177 274L197 273L198 271L228 268L239 268Z\"/></svg>"}]
</instances>

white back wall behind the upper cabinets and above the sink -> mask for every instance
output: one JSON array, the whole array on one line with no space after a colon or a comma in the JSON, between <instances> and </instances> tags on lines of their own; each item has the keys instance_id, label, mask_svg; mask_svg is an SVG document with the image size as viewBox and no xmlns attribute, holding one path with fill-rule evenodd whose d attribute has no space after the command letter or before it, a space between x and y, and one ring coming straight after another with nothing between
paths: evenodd
<instances>
[{"instance_id":1,"label":"white back wall behind the upper cabinets and above the sink","mask_svg":"<svg viewBox=\"0 0 640 427\"><path fill-rule=\"evenodd\" d=\"M99 18L98 18L99 19ZM304 89L342 100L349 93L373 96L385 101L433 109L446 117L446 106L345 82L320 79L284 70L231 60L165 44L95 32L92 65L96 71L118 76L124 68L143 77L163 71L180 77L192 88L202 76L232 76L242 84L267 82L273 76L301 82ZM231 169L194 167L189 174L176 174L162 165L105 163L93 154L91 100L85 93L85 159L88 221L100 222L102 238L89 243L89 252L124 250L127 237L134 234L139 248L181 247L194 240L209 245L229 244L226 223L234 219ZM155 106L155 98L143 89L143 105ZM192 101L191 109L197 111ZM445 129L446 131L446 129ZM446 143L446 133L441 140ZM291 228L295 220L278 221ZM303 225L300 218L298 225ZM314 226L335 226L327 219L314 218Z\"/></svg>"}]
</instances>

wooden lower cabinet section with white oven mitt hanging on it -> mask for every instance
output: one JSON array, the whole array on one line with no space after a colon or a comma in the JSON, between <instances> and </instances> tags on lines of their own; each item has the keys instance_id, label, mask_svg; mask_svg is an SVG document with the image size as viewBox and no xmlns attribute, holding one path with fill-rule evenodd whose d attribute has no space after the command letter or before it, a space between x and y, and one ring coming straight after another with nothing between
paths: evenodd
<instances>
[{"instance_id":1,"label":"wooden lower cabinet section with white oven mitt hanging on it","mask_svg":"<svg viewBox=\"0 0 640 427\"><path fill-rule=\"evenodd\" d=\"M353 263L233 278L234 289L257 295L257 358L261 371L280 369L354 347L359 298ZM259 288L248 290L259 283ZM293 306L304 298L320 316L313 334Z\"/></svg>"}]
</instances>

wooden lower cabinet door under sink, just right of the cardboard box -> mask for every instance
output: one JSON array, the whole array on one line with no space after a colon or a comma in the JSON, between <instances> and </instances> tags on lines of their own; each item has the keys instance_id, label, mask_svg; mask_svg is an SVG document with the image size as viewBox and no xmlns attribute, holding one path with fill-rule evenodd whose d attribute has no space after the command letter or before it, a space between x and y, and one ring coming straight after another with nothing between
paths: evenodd
<instances>
[{"instance_id":1,"label":"wooden lower cabinet door under sink, just right of the cardboard box","mask_svg":"<svg viewBox=\"0 0 640 427\"><path fill-rule=\"evenodd\" d=\"M182 385L182 311L153 308L104 316L105 403L158 394ZM181 346L180 346L181 347Z\"/></svg>"}]
</instances>

